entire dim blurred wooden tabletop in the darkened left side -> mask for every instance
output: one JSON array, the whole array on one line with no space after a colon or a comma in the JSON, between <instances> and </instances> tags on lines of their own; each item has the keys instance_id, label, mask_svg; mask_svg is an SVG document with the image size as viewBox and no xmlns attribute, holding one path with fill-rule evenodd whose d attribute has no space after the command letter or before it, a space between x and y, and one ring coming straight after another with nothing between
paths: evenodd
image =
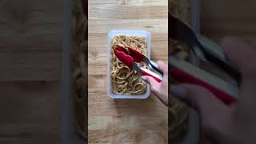
<instances>
[{"instance_id":1,"label":"entire dim blurred wooden tabletop in the darkened left side","mask_svg":"<svg viewBox=\"0 0 256 144\"><path fill-rule=\"evenodd\" d=\"M62 7L0 1L0 143L60 143Z\"/></svg>"}]
</instances>

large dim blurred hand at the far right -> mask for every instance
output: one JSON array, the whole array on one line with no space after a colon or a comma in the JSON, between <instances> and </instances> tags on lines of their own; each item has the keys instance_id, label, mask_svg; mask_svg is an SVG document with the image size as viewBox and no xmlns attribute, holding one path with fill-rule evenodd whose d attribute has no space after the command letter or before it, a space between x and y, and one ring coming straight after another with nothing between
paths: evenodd
<instances>
[{"instance_id":1,"label":"large dim blurred hand at the far right","mask_svg":"<svg viewBox=\"0 0 256 144\"><path fill-rule=\"evenodd\" d=\"M237 38L222 41L227 58L242 73L242 85L237 102L230 106L218 100L201 86L180 84L170 91L198 110L202 129L216 143L256 142L256 46Z\"/></svg>"}]
</instances>

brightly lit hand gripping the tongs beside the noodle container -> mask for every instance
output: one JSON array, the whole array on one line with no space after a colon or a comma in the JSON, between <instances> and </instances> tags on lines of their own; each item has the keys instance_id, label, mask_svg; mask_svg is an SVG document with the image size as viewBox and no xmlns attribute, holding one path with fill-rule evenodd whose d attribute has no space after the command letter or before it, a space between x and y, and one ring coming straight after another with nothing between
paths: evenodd
<instances>
[{"instance_id":1,"label":"brightly lit hand gripping the tongs beside the noodle container","mask_svg":"<svg viewBox=\"0 0 256 144\"><path fill-rule=\"evenodd\" d=\"M158 67L163 72L163 81L157 82L154 78L149 76L142 76L142 80L150 83L152 92L168 106L168 64L166 62L159 61Z\"/></svg>"}]
</instances>

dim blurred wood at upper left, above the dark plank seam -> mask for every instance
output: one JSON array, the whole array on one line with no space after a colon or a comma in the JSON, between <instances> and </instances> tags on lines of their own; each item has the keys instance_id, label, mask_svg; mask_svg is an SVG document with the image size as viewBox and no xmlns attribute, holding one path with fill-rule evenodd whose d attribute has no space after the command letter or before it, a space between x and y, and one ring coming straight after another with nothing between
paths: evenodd
<instances>
[{"instance_id":1,"label":"dim blurred wood at upper left, above the dark plank seam","mask_svg":"<svg viewBox=\"0 0 256 144\"><path fill-rule=\"evenodd\" d=\"M0 2L0 81L51 81L60 74L62 1Z\"/></svg>"}]
</instances>

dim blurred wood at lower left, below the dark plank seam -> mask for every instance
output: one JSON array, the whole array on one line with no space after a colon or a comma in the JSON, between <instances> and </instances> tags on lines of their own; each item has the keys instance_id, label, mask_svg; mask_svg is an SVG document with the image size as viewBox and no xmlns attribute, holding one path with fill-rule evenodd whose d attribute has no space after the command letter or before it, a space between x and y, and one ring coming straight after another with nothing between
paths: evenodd
<instances>
[{"instance_id":1,"label":"dim blurred wood at lower left, below the dark plank seam","mask_svg":"<svg viewBox=\"0 0 256 144\"><path fill-rule=\"evenodd\" d=\"M0 82L0 143L60 142L59 82Z\"/></svg>"}]
</instances>

